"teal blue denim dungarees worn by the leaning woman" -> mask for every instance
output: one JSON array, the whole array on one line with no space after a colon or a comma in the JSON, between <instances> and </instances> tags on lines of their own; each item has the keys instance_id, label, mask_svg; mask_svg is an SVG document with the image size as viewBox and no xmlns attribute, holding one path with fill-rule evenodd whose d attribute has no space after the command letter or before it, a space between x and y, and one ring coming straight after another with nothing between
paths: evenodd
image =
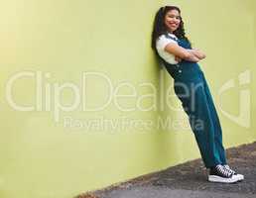
<instances>
[{"instance_id":1,"label":"teal blue denim dungarees worn by the leaning woman","mask_svg":"<svg viewBox=\"0 0 256 198\"><path fill-rule=\"evenodd\" d=\"M186 40L177 42L185 49L192 49ZM205 167L226 164L221 126L206 79L199 65L188 60L182 60L178 64L170 64L164 59L163 61L167 71L174 78L175 93L189 117Z\"/></svg>"}]
</instances>

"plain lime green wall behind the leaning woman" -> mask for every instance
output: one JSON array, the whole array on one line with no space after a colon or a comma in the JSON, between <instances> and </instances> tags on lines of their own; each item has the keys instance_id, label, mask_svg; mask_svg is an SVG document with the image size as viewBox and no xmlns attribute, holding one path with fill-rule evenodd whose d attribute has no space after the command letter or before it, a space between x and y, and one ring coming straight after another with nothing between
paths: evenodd
<instances>
[{"instance_id":1,"label":"plain lime green wall behind the leaning woman","mask_svg":"<svg viewBox=\"0 0 256 198\"><path fill-rule=\"evenodd\" d=\"M167 95L172 79L157 64L150 49L153 16L161 5L170 1L17 1L2 3L0 8L0 197L1 198L68 198L124 181L142 174L198 157L190 130L136 127L97 129L64 127L64 118L90 121L104 117L114 120L137 119L152 121L187 118L183 112L151 107L154 97ZM251 121L255 119L253 83L256 48L256 5L253 0L238 1L172 1L183 10L188 35L196 48L207 58L201 66L208 78L216 106L222 103L226 111L238 114L238 90L232 89L218 100L218 90L224 82L236 78L246 69L251 71ZM221 5L221 7L216 7ZM14 110L7 102L8 80L15 73L50 73L43 76L43 88L51 87L50 104L54 105L56 86L75 84L82 93L82 72L94 71L108 76L123 108L120 111L112 99L102 111L82 111L81 104L71 112L61 112L56 122L53 106L46 111L43 91L40 106L32 112ZM164 78L160 78L160 76ZM160 79L164 79L162 82ZM84 86L90 106L104 103L108 94L107 81L90 78ZM237 82L237 80L236 80ZM126 86L122 83L126 83ZM142 85L142 83L148 83ZM13 86L13 98L20 104L34 104L36 82L19 79ZM129 86L127 86L127 84ZM162 89L164 84L166 88ZM121 86L118 91L118 86ZM135 88L132 89L132 87ZM236 86L237 88L238 86ZM133 94L137 96L132 96ZM172 93L173 94L173 93ZM59 98L56 95L57 99ZM73 102L73 94L65 89L60 96L64 105ZM40 101L39 101L40 102ZM159 104L159 101L157 102ZM181 108L176 97L172 106ZM56 106L55 106L56 107ZM154 107L154 106L153 106ZM240 127L219 114L226 147L256 140L255 123ZM188 124L188 123L187 123ZM185 147L188 146L188 147Z\"/></svg>"}]
</instances>

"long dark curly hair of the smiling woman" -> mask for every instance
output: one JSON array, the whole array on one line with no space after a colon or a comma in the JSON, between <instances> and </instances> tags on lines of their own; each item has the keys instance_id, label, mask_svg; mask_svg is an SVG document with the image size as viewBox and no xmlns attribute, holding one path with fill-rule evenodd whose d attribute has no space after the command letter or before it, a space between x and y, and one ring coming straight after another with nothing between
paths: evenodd
<instances>
[{"instance_id":1,"label":"long dark curly hair of the smiling woman","mask_svg":"<svg viewBox=\"0 0 256 198\"><path fill-rule=\"evenodd\" d=\"M181 15L181 9L177 6L165 6L161 7L159 11L157 12L154 20L154 27L152 32L152 43L151 48L155 50L155 52L158 54L156 49L156 41L161 35L168 34L168 29L165 25L165 16L170 10L177 10ZM181 23L179 28L173 33L178 39L185 39L187 42L190 42L190 40L186 37L185 29L184 29L184 22L183 18L181 17Z\"/></svg>"}]
</instances>

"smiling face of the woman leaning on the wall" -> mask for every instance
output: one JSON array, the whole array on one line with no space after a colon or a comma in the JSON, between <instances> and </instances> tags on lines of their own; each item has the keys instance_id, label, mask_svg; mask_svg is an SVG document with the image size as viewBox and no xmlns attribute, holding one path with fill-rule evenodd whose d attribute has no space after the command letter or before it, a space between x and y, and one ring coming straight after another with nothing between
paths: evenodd
<instances>
[{"instance_id":1,"label":"smiling face of the woman leaning on the wall","mask_svg":"<svg viewBox=\"0 0 256 198\"><path fill-rule=\"evenodd\" d=\"M165 25L169 32L173 33L176 31L181 24L181 16L178 10L170 10L165 16Z\"/></svg>"}]
</instances>

